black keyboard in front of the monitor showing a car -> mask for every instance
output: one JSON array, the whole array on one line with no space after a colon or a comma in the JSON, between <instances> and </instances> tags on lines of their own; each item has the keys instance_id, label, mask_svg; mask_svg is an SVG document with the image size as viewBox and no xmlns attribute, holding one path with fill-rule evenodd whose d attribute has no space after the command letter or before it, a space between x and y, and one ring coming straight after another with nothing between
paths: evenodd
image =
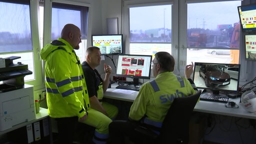
<instances>
[{"instance_id":1,"label":"black keyboard in front of the monitor showing a car","mask_svg":"<svg viewBox=\"0 0 256 144\"><path fill-rule=\"evenodd\" d=\"M211 95L211 94L201 94L200 100L227 103L228 97L227 96L219 96L219 95Z\"/></svg>"}]
</instances>

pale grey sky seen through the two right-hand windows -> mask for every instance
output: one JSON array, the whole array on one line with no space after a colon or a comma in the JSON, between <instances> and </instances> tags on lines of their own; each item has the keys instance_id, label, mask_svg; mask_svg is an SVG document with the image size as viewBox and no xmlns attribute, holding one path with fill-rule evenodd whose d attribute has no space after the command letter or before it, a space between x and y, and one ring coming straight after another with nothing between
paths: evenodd
<instances>
[{"instance_id":1,"label":"pale grey sky seen through the two right-hand windows","mask_svg":"<svg viewBox=\"0 0 256 144\"><path fill-rule=\"evenodd\" d=\"M218 24L233 25L233 23L239 21L237 6L240 3L240 0L188 3L187 28L203 28L204 26L204 28L215 29ZM163 20L164 17L165 21ZM132 21L130 30L162 28L163 21L165 22L165 28L170 29L171 5L130 8L130 20Z\"/></svg>"}]
</instances>

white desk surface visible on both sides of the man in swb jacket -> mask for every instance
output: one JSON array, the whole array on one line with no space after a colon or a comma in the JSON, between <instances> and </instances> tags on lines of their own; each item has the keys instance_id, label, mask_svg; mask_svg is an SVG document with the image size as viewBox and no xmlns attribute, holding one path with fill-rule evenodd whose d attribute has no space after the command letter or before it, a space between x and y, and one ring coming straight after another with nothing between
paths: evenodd
<instances>
[{"instance_id":1,"label":"white desk surface visible on both sides of the man in swb jacket","mask_svg":"<svg viewBox=\"0 0 256 144\"><path fill-rule=\"evenodd\" d=\"M134 91L131 94L114 92L114 90L116 89L114 88L115 86L117 86L117 84L113 83L111 85L111 88L108 88L106 90L106 92L104 93L105 98L132 102L138 94L138 91ZM235 98L235 99L229 98L229 101L234 101L238 105L239 105L239 100L240 100L239 98ZM224 103L220 103L220 102L200 100L199 102L196 103L194 107L194 111L256 119L256 112L248 112L245 109L243 109L240 105L238 108L227 108L225 107Z\"/></svg>"}]
</instances>

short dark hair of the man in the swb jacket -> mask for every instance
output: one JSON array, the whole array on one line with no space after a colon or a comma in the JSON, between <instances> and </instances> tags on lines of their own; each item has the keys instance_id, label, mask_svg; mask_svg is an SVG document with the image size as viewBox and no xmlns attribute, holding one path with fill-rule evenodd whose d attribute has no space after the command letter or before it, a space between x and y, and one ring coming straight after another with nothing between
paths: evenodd
<instances>
[{"instance_id":1,"label":"short dark hair of the man in the swb jacket","mask_svg":"<svg viewBox=\"0 0 256 144\"><path fill-rule=\"evenodd\" d=\"M164 71L173 71L175 60L170 53L165 51L159 51L154 54L157 63L160 64L160 68Z\"/></svg>"}]
</instances>

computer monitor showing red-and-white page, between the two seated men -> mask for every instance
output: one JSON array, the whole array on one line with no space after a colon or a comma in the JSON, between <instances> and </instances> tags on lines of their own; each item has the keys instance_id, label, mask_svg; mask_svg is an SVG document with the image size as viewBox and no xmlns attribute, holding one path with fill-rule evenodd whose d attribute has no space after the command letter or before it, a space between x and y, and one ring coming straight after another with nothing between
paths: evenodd
<instances>
[{"instance_id":1,"label":"computer monitor showing red-and-white page, between the two seated men","mask_svg":"<svg viewBox=\"0 0 256 144\"><path fill-rule=\"evenodd\" d=\"M138 79L150 79L152 55L119 54L116 66L116 76L133 78L133 84L138 85Z\"/></svg>"}]
</instances>

